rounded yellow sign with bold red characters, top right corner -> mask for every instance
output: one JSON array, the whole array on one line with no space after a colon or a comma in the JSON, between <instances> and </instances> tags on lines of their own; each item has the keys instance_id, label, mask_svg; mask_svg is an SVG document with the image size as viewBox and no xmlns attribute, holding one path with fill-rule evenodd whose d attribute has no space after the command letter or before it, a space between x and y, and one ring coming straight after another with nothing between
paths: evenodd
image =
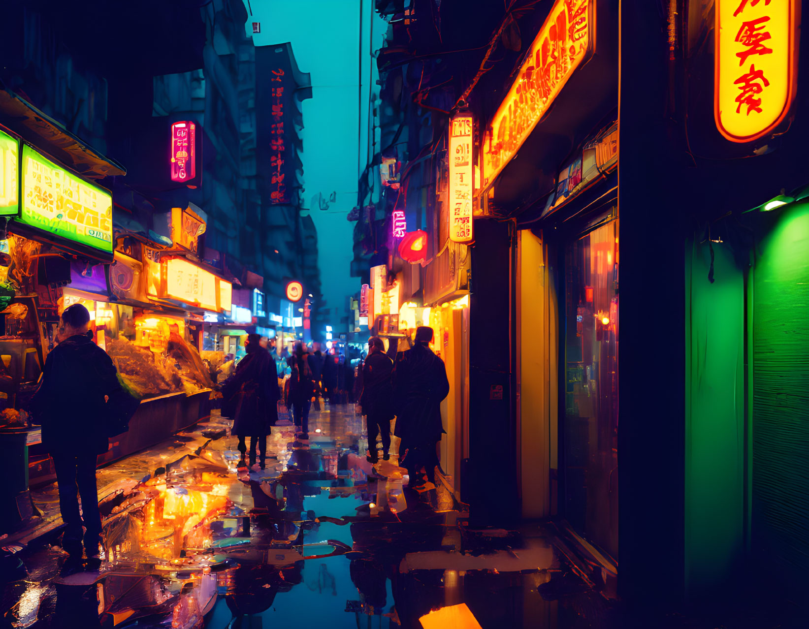
<instances>
[{"instance_id":1,"label":"rounded yellow sign with bold red characters, top right corner","mask_svg":"<svg viewBox=\"0 0 809 629\"><path fill-rule=\"evenodd\" d=\"M797 0L716 0L714 118L730 141L773 131L795 95Z\"/></svg>"}]
</instances>

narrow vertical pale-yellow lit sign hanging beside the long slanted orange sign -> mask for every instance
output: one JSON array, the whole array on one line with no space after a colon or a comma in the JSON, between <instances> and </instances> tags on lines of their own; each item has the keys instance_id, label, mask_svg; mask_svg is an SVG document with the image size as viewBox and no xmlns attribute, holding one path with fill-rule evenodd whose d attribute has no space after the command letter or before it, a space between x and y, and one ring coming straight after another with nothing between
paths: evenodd
<instances>
[{"instance_id":1,"label":"narrow vertical pale-yellow lit sign hanging beside the long slanted orange sign","mask_svg":"<svg viewBox=\"0 0 809 629\"><path fill-rule=\"evenodd\" d=\"M450 120L449 151L450 240L469 243L472 234L472 116Z\"/></svg>"}]
</instances>

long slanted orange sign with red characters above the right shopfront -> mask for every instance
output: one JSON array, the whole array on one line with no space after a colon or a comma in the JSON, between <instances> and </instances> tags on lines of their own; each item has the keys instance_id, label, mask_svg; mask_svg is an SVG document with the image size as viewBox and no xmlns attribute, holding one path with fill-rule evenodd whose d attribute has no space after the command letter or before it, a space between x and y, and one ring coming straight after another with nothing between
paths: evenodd
<instances>
[{"instance_id":1,"label":"long slanted orange sign with red characters above the right shopfront","mask_svg":"<svg viewBox=\"0 0 809 629\"><path fill-rule=\"evenodd\" d=\"M557 0L483 137L483 185L514 157L581 65L594 37L595 3Z\"/></svg>"}]
</instances>

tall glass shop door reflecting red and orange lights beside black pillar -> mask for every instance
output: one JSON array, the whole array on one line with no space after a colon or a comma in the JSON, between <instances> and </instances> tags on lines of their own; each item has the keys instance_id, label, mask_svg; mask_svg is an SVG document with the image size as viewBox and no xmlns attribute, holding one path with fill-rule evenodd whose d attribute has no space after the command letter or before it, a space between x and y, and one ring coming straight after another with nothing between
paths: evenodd
<instances>
[{"instance_id":1,"label":"tall glass shop door reflecting red and orange lights beside black pillar","mask_svg":"<svg viewBox=\"0 0 809 629\"><path fill-rule=\"evenodd\" d=\"M618 558L618 221L565 247L564 515Z\"/></svg>"}]
</instances>

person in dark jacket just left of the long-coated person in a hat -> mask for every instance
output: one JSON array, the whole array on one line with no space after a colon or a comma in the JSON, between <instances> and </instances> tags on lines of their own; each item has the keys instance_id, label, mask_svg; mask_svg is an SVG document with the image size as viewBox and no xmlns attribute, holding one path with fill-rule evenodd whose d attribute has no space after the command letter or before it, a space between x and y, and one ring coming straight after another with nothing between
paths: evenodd
<instances>
[{"instance_id":1,"label":"person in dark jacket just left of the long-coated person in a hat","mask_svg":"<svg viewBox=\"0 0 809 629\"><path fill-rule=\"evenodd\" d=\"M371 353L362 366L362 414L366 416L368 428L367 459L371 463L379 461L376 437L382 435L382 451L385 461L390 458L391 420L393 419L393 361L385 354L385 345L379 336L368 341Z\"/></svg>"}]
</instances>

